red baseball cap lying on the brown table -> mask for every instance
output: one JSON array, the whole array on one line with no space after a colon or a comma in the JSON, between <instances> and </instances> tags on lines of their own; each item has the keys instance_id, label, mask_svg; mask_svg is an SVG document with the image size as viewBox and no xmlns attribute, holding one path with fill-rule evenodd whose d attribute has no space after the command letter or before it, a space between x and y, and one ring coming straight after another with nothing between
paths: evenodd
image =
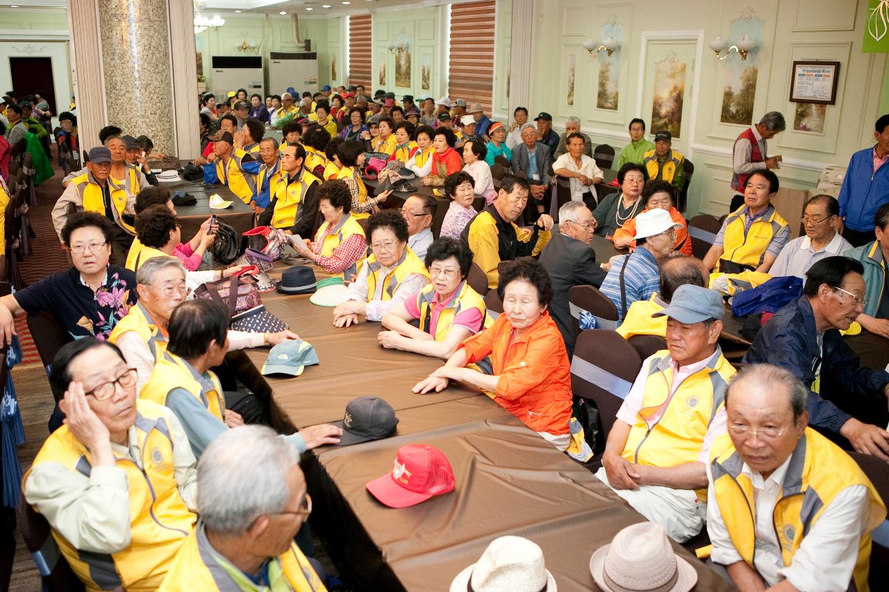
<instances>
[{"instance_id":1,"label":"red baseball cap lying on the brown table","mask_svg":"<svg viewBox=\"0 0 889 592\"><path fill-rule=\"evenodd\" d=\"M369 481L366 487L389 508L407 508L435 495L453 492L453 469L435 446L407 444L396 452L392 470Z\"/></svg>"}]
</instances>

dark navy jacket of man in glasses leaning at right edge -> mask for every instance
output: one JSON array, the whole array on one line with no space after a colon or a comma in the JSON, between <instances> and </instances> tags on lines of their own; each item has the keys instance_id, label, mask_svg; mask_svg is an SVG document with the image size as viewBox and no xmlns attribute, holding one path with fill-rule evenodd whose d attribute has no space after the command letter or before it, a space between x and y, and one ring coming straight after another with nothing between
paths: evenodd
<instances>
[{"instance_id":1,"label":"dark navy jacket of man in glasses leaning at right edge","mask_svg":"<svg viewBox=\"0 0 889 592\"><path fill-rule=\"evenodd\" d=\"M781 308L757 333L744 356L745 364L775 364L811 388L813 366L821 360L821 394L843 404L844 397L873 396L882 392L889 373L861 365L836 329L824 332L824 352L818 348L815 316L805 294ZM821 395L809 391L806 404L809 425L839 432L852 416Z\"/></svg>"}]
</instances>

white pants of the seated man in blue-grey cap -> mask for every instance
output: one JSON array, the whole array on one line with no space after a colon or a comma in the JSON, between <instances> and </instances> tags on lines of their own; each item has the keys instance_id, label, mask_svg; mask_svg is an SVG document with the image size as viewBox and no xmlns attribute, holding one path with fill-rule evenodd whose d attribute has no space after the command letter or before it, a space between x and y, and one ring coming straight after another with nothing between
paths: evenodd
<instances>
[{"instance_id":1,"label":"white pants of the seated man in blue-grey cap","mask_svg":"<svg viewBox=\"0 0 889 592\"><path fill-rule=\"evenodd\" d=\"M670 539L683 543L701 532L707 520L707 504L689 489L641 485L639 489L614 489L608 483L605 467L596 472L599 480L627 500L639 514L661 524Z\"/></svg>"}]
</instances>

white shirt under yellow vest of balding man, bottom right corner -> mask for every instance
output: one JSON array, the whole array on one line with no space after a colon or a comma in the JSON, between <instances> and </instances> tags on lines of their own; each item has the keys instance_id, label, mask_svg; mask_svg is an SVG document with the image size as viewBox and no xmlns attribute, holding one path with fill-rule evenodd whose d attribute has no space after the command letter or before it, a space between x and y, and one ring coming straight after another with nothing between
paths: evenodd
<instances>
[{"instance_id":1,"label":"white shirt under yellow vest of balding man, bottom right corner","mask_svg":"<svg viewBox=\"0 0 889 592\"><path fill-rule=\"evenodd\" d=\"M861 533L867 529L865 511L868 508L868 490L864 485L852 485L839 492L805 535L790 565L784 567L780 543L774 532L773 511L781 496L789 463L790 457L767 479L751 470L746 462L741 468L741 473L748 476L753 484L753 501L757 515L753 565L767 587L774 586L781 580L789 580L798 590L806 592L845 590L849 587L855 562L858 560ZM709 464L707 475L707 499L711 502L707 504L707 531L710 542L713 543L710 558L717 564L735 564L741 561L741 555L732 544L719 504L716 503L717 494L713 488Z\"/></svg>"}]
</instances>

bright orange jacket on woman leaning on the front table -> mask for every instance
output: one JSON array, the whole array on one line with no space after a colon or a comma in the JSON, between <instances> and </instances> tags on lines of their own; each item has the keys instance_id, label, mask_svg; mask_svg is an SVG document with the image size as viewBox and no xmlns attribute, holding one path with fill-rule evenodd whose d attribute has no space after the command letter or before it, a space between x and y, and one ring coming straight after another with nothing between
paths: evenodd
<instances>
[{"instance_id":1,"label":"bright orange jacket on woman leaning on the front table","mask_svg":"<svg viewBox=\"0 0 889 592\"><path fill-rule=\"evenodd\" d=\"M568 433L571 420L571 364L556 323L544 312L509 345L512 325L501 315L490 329L463 341L472 364L491 356L500 376L494 401L535 432Z\"/></svg>"}]
</instances>

